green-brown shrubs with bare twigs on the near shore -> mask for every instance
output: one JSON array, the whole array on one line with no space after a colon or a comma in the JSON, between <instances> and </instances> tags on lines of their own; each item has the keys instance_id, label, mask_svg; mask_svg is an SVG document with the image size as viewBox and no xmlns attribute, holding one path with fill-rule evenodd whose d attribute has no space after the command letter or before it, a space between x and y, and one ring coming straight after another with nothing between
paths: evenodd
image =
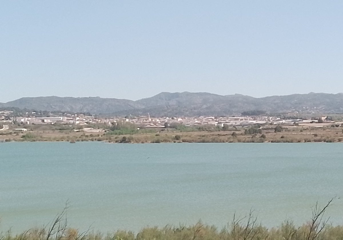
<instances>
[{"instance_id":1,"label":"green-brown shrubs with bare twigs on the near shore","mask_svg":"<svg viewBox=\"0 0 343 240\"><path fill-rule=\"evenodd\" d=\"M231 223L221 230L215 226L203 224L201 221L190 226L167 225L163 228L145 227L137 235L133 231L118 230L113 233L92 232L90 229L80 232L68 227L66 206L49 225L34 228L13 236L10 231L0 235L1 240L338 240L343 239L343 226L328 224L325 216L331 199L324 207L318 203L312 207L312 216L307 223L296 226L291 220L283 221L278 227L268 229L262 226L254 211L243 217L234 215Z\"/></svg>"}]
</instances>

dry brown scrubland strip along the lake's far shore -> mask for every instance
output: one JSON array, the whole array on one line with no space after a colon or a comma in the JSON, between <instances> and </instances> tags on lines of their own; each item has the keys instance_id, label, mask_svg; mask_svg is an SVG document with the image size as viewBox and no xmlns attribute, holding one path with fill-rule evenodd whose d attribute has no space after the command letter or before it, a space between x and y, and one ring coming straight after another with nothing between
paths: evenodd
<instances>
[{"instance_id":1,"label":"dry brown scrubland strip along the lake's far shore","mask_svg":"<svg viewBox=\"0 0 343 240\"><path fill-rule=\"evenodd\" d=\"M30 129L31 130L31 129ZM70 128L51 130L44 125L27 132L0 132L0 141L105 141L110 143L208 143L208 142L342 142L343 127L329 124L322 127L299 125L282 127L281 131L275 131L275 126L264 126L259 131L249 134L248 128L227 128L225 131L218 128L194 129L155 129L149 131L120 130L119 132L74 132ZM256 128L255 128L256 130Z\"/></svg>"}]
</instances>

